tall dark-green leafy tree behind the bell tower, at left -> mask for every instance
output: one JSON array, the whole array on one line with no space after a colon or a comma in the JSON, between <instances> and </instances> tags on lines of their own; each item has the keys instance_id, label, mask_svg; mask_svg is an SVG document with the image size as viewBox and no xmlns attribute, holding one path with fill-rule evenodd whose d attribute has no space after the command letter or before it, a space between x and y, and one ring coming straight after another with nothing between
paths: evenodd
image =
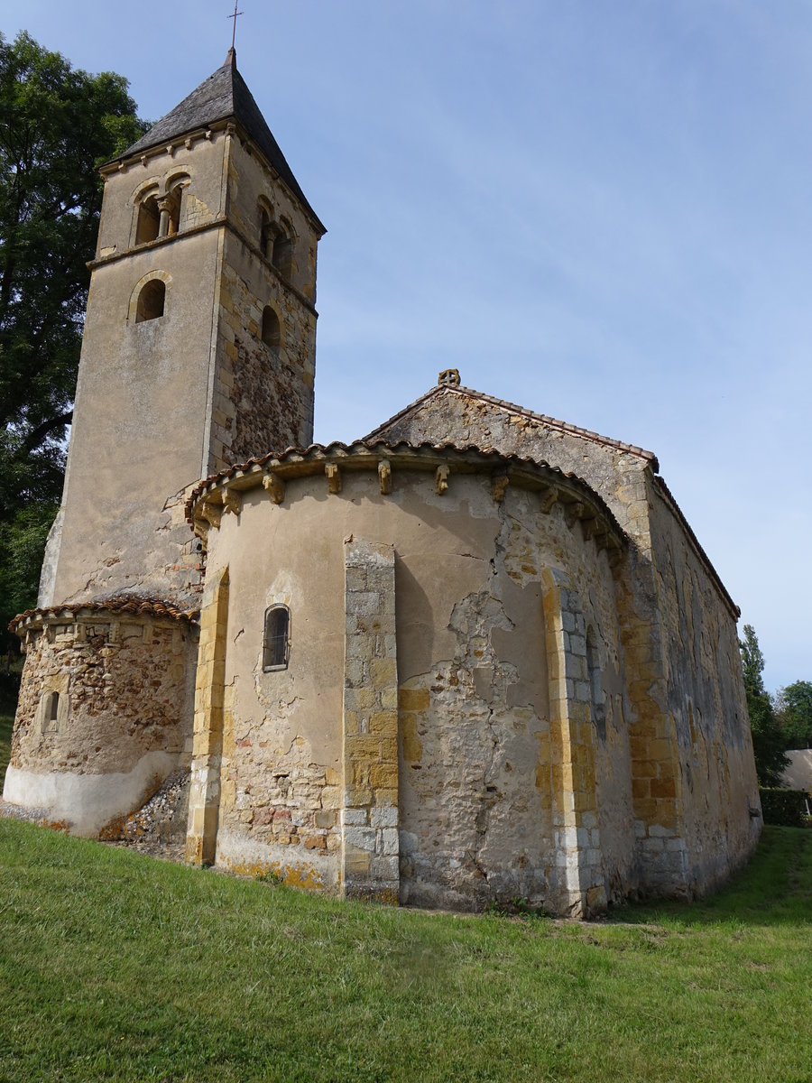
<instances>
[{"instance_id":1,"label":"tall dark-green leafy tree behind the bell tower, at left","mask_svg":"<svg viewBox=\"0 0 812 1083\"><path fill-rule=\"evenodd\" d=\"M102 204L99 166L144 131L127 81L0 35L0 628L36 601ZM36 570L36 571L35 571ZM4 648L8 650L9 641Z\"/></svg>"}]
</instances>

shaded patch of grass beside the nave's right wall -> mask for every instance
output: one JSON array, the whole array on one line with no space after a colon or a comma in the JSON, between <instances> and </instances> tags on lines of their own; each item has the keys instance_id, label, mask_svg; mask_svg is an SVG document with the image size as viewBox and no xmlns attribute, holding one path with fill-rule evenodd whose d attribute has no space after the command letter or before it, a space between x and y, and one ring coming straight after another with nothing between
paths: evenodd
<instances>
[{"instance_id":1,"label":"shaded patch of grass beside the nave's right wall","mask_svg":"<svg viewBox=\"0 0 812 1083\"><path fill-rule=\"evenodd\" d=\"M812 831L765 826L749 864L716 895L618 908L612 922L681 926L812 925Z\"/></svg>"}]
</instances>

